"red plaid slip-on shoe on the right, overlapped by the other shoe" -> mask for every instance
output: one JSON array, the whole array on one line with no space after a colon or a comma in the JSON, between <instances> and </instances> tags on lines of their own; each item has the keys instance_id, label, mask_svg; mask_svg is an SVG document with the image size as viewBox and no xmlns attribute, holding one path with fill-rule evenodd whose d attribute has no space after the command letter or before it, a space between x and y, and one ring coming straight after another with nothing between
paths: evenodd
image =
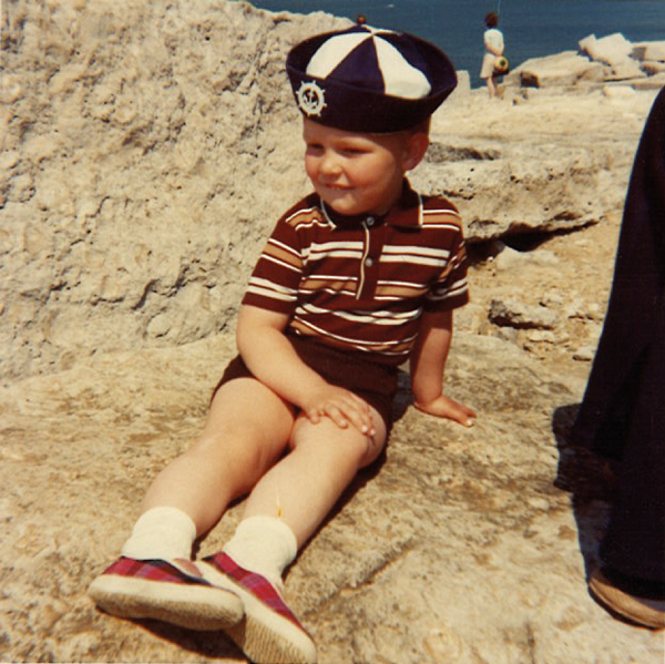
<instances>
[{"instance_id":1,"label":"red plaid slip-on shoe on the right, overlapped by the other shoe","mask_svg":"<svg viewBox=\"0 0 665 664\"><path fill-rule=\"evenodd\" d=\"M207 581L236 593L243 601L245 620L226 629L226 633L252 662L316 663L314 641L267 579L244 570L224 552L197 564Z\"/></svg>"}]
</instances>

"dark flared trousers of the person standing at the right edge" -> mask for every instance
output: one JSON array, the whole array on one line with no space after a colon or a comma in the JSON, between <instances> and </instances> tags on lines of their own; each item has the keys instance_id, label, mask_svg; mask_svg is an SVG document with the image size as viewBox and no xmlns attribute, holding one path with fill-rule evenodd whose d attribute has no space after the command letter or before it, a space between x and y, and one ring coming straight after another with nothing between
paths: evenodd
<instances>
[{"instance_id":1,"label":"dark flared trousers of the person standing at the right edge","mask_svg":"<svg viewBox=\"0 0 665 664\"><path fill-rule=\"evenodd\" d=\"M603 562L665 585L665 89L635 156L607 315L572 438L621 462Z\"/></svg>"}]
</instances>

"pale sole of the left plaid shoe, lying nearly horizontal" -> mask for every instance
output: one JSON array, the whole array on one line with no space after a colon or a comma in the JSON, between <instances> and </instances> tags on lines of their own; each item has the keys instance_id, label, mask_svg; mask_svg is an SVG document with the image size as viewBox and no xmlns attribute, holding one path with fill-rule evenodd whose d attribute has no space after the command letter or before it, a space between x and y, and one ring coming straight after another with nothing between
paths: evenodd
<instances>
[{"instance_id":1,"label":"pale sole of the left plaid shoe, lying nearly horizontal","mask_svg":"<svg viewBox=\"0 0 665 664\"><path fill-rule=\"evenodd\" d=\"M88 594L117 617L160 620L190 630L224 630L244 614L238 596L207 585L105 574L92 582Z\"/></svg>"}]
</instances>

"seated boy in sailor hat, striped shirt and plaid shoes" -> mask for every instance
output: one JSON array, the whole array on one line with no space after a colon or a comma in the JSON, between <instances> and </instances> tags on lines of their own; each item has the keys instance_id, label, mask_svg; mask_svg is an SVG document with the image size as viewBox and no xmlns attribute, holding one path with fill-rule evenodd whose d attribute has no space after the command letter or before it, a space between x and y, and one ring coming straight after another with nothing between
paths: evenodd
<instances>
[{"instance_id":1,"label":"seated boy in sailor hat, striped shirt and plaid shoes","mask_svg":"<svg viewBox=\"0 0 665 664\"><path fill-rule=\"evenodd\" d=\"M457 84L452 64L357 25L297 45L287 71L315 193L257 263L201 439L156 478L122 558L90 588L115 615L224 629L254 662L316 661L282 575L381 452L398 365L410 357L421 410L475 416L441 391L452 309L468 299L459 216L405 178ZM194 539L247 493L231 542L193 562Z\"/></svg>"}]
</instances>

